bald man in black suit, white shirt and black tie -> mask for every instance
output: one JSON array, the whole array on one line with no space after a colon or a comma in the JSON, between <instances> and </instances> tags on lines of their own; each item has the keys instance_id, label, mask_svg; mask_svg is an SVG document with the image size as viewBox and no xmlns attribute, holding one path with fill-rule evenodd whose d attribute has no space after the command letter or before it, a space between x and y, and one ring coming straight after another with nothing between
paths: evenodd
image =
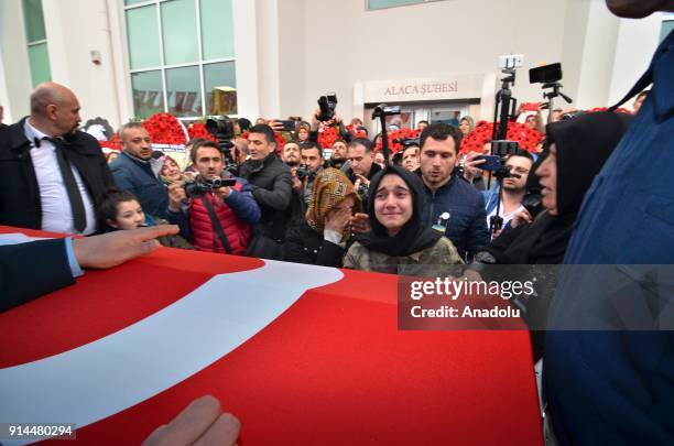
<instances>
[{"instance_id":1,"label":"bald man in black suit, white shirt and black tie","mask_svg":"<svg viewBox=\"0 0 674 446\"><path fill-rule=\"evenodd\" d=\"M75 94L50 81L31 94L30 117L0 132L0 225L96 231L95 204L115 181L80 120Z\"/></svg>"}]
</instances>

